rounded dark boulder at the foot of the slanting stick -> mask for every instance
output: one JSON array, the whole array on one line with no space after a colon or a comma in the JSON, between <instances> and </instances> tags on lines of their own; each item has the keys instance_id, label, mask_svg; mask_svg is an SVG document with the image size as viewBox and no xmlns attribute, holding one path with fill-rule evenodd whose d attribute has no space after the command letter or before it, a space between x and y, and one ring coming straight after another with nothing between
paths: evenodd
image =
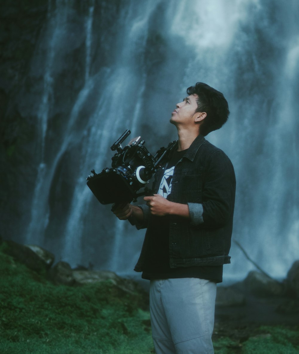
<instances>
[{"instance_id":1,"label":"rounded dark boulder at the foot of the slanting stick","mask_svg":"<svg viewBox=\"0 0 299 354\"><path fill-rule=\"evenodd\" d=\"M283 295L284 286L264 273L252 270L243 281L245 288L259 297Z\"/></svg>"}]
</instances>

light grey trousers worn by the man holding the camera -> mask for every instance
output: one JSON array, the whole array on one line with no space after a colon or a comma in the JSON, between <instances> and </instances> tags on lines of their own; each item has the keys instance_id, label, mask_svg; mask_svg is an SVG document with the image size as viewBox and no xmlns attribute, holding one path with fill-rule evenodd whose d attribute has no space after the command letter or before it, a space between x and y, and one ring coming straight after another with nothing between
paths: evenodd
<instances>
[{"instance_id":1,"label":"light grey trousers worn by the man holding the camera","mask_svg":"<svg viewBox=\"0 0 299 354\"><path fill-rule=\"evenodd\" d=\"M216 283L197 278L150 281L157 354L213 354Z\"/></svg>"}]
</instances>

